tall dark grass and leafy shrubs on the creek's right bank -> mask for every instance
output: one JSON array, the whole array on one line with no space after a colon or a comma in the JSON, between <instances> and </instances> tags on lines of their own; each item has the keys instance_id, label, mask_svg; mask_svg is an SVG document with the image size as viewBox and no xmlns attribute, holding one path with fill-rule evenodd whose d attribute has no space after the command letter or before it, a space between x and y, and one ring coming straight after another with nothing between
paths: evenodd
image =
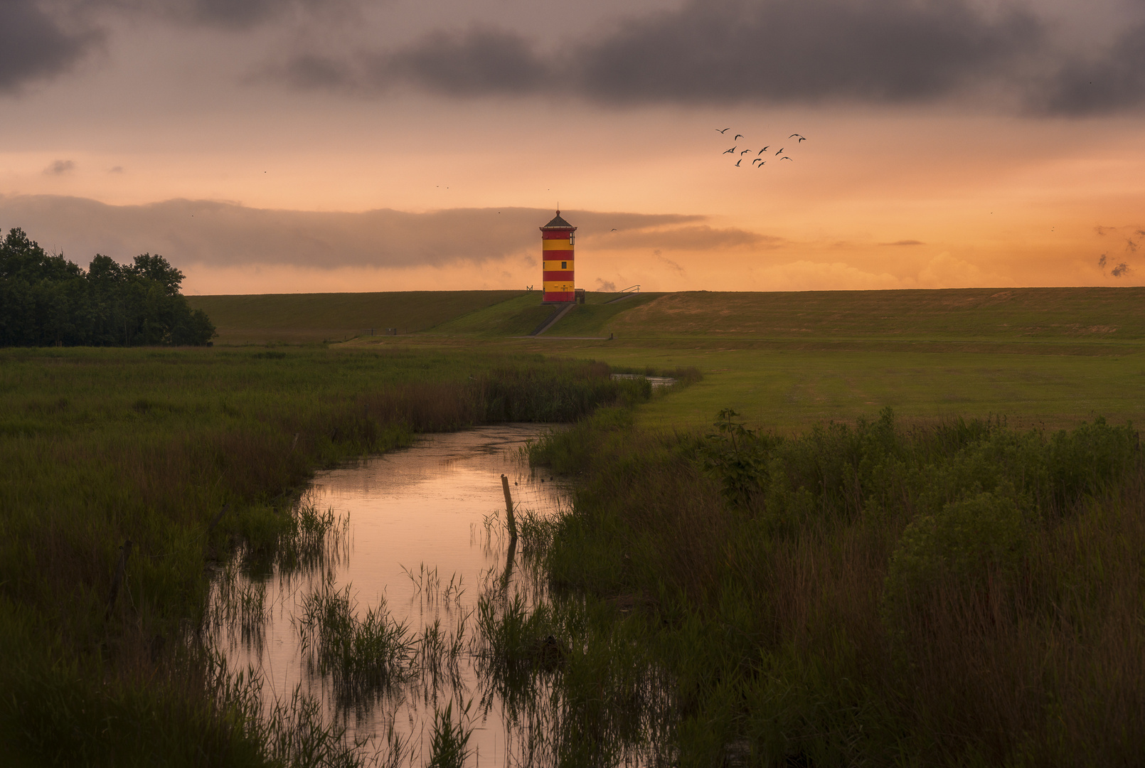
<instances>
[{"instance_id":1,"label":"tall dark grass and leafy shrubs on the creek's right bank","mask_svg":"<svg viewBox=\"0 0 1145 768\"><path fill-rule=\"evenodd\" d=\"M782 437L722 417L665 434L603 412L532 454L582 477L550 579L614 608L599 644L635 636L666 671L673 760L1139 759L1136 430L886 411Z\"/></svg>"}]
</instances>

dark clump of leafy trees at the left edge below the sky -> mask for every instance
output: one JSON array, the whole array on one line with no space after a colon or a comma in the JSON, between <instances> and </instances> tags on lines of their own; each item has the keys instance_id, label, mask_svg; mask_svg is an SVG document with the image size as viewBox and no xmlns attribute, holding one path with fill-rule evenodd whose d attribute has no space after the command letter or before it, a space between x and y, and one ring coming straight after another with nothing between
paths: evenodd
<instances>
[{"instance_id":1,"label":"dark clump of leafy trees at the left edge below the sky","mask_svg":"<svg viewBox=\"0 0 1145 768\"><path fill-rule=\"evenodd\" d=\"M215 327L160 255L96 255L87 271L21 229L0 243L0 347L206 345Z\"/></svg>"}]
</instances>

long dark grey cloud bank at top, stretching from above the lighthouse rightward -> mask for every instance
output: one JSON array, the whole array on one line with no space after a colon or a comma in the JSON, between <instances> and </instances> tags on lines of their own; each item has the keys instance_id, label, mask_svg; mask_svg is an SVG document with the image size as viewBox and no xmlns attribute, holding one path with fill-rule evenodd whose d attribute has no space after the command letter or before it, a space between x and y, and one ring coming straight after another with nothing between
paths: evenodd
<instances>
[{"instance_id":1,"label":"long dark grey cloud bank at top, stretching from above the lighthouse rightward","mask_svg":"<svg viewBox=\"0 0 1145 768\"><path fill-rule=\"evenodd\" d=\"M537 50L490 30L434 33L323 72L448 95L574 93L611 103L917 102L1000 77L1040 23L966 0L693 0L592 41ZM329 81L329 79L327 79Z\"/></svg>"}]
</instances>

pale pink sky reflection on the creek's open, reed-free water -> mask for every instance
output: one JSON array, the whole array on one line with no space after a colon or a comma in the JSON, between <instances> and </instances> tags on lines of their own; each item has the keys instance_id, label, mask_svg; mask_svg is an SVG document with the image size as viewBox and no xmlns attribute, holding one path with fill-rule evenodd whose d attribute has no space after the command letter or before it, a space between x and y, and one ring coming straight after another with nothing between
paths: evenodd
<instances>
[{"instance_id":1,"label":"pale pink sky reflection on the creek's open, reed-free water","mask_svg":"<svg viewBox=\"0 0 1145 768\"><path fill-rule=\"evenodd\" d=\"M548 475L534 473L520 456L519 449L526 441L551 428L506 425L432 435L410 449L318 473L307 499L318 509L349 514L350 521L350 554L348 562L335 569L337 586L353 585L360 612L377 605L379 597L385 596L394 617L408 619L418 633L435 617L441 618L443 627L456 625L460 615L476 607L483 577L499 573L504 568L507 543L493 540L489 546L483 525L491 513L499 512L504 520L500 475L508 477L519 509L552 513L567 499L567 486L548 482ZM423 595L402 568L417 576L423 565L436 568L442 587L455 575L461 579L465 593L459 604L425 605ZM298 631L291 621L292 615L300 612L302 595L311 587L307 579L295 579L283 592L277 580L271 579L267 601L273 610L261 651L247 652L236 647L229 651L231 663L238 666L261 658L268 695L289 696L300 682L315 692L325 686L325 681L309 678L299 654ZM471 619L471 635L475 628ZM467 666L463 660L463 670ZM472 672L465 678L472 683ZM444 696L442 705L449 692ZM471 690L463 696L469 697L476 699L479 695ZM348 725L358 733L377 733L388 722L394 722L398 731L412 734L414 743L423 742L418 765L428 760L432 707L426 711L418 707L418 702L382 700L363 722L355 726L350 716ZM471 746L482 763L505 765L505 733L498 707L493 706L484 722L473 726ZM471 760L471 765L476 761Z\"/></svg>"}]
</instances>

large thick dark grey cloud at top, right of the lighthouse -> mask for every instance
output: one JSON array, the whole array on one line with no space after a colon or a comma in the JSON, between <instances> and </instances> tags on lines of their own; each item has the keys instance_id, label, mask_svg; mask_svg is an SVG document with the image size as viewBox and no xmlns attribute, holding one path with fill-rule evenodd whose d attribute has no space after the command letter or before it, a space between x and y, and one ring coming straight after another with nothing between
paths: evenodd
<instances>
[{"instance_id":1,"label":"large thick dark grey cloud at top, right of the lighthouse","mask_svg":"<svg viewBox=\"0 0 1145 768\"><path fill-rule=\"evenodd\" d=\"M584 87L607 100L919 101L990 74L1039 41L1011 11L963 0L692 2L586 46Z\"/></svg>"}]
</instances>

